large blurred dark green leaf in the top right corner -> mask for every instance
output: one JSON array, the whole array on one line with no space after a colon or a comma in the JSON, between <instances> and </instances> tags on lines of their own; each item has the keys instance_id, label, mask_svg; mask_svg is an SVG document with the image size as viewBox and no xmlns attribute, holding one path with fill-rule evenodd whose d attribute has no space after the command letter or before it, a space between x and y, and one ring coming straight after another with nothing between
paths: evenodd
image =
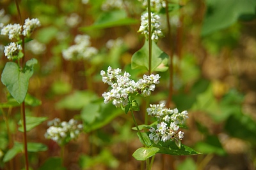
<instances>
[{"instance_id":1,"label":"large blurred dark green leaf in the top right corner","mask_svg":"<svg viewBox=\"0 0 256 170\"><path fill-rule=\"evenodd\" d=\"M207 13L205 14L201 32L203 36L229 27L239 17L256 17L256 1L254 0L207 0L206 3Z\"/></svg>"}]
</instances>

